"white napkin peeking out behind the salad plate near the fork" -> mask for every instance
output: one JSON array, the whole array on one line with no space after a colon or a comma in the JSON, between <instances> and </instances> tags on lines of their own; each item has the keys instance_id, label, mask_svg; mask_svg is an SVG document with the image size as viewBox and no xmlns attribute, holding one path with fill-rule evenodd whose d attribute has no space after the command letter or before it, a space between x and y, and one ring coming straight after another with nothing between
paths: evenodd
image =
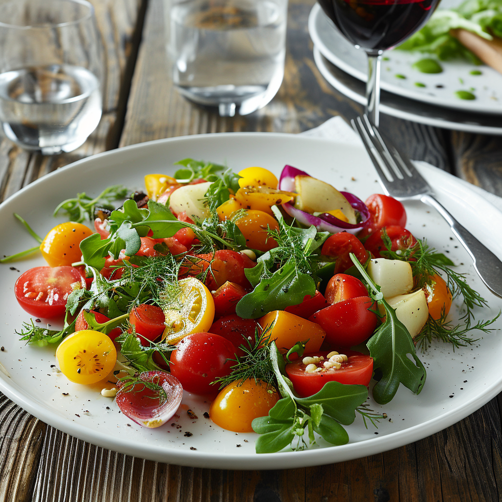
<instances>
[{"instance_id":1,"label":"white napkin peeking out behind the salad plate near the fork","mask_svg":"<svg viewBox=\"0 0 502 502\"><path fill-rule=\"evenodd\" d=\"M358 147L362 147L362 141L359 138L359 136L355 133L355 131L343 120L342 117L336 116L332 117L329 120L326 120L323 124L321 124L319 127L316 127L314 129L310 129L309 131L305 131L304 133L301 133L303 136L310 136L312 138L324 138L324 139L333 139L336 138L338 141L342 141L346 144L349 145L354 145ZM422 162L423 164L428 164L427 162ZM439 169L439 168L435 168ZM455 178L458 182L463 183L465 186L469 187L469 189L473 190L474 192L477 192L481 197L483 197L485 200L493 204L497 209L502 211L502 198L497 197L495 194L487 192L486 190L483 190L482 188L479 188L476 185L472 185L471 183L462 180L460 178L457 178L456 176L453 176L452 174L446 173L448 176L452 176Z\"/></svg>"}]
</instances>

